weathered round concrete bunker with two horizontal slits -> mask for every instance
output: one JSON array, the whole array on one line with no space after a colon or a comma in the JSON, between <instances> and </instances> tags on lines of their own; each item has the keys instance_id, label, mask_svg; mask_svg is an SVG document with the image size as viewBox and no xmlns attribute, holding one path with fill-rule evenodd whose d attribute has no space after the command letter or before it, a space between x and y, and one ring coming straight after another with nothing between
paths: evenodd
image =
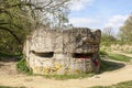
<instances>
[{"instance_id":1,"label":"weathered round concrete bunker with two horizontal slits","mask_svg":"<svg viewBox=\"0 0 132 88\"><path fill-rule=\"evenodd\" d=\"M24 48L29 67L43 75L95 72L99 68L100 36L99 30L78 28L34 31Z\"/></svg>"}]
</instances>

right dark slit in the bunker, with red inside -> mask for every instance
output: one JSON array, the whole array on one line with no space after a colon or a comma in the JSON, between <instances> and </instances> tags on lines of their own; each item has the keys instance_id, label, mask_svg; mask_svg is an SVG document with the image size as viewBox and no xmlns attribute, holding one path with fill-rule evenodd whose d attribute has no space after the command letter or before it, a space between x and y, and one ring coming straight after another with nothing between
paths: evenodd
<instances>
[{"instance_id":1,"label":"right dark slit in the bunker, with red inside","mask_svg":"<svg viewBox=\"0 0 132 88\"><path fill-rule=\"evenodd\" d=\"M74 53L74 58L91 58L92 53Z\"/></svg>"}]
</instances>

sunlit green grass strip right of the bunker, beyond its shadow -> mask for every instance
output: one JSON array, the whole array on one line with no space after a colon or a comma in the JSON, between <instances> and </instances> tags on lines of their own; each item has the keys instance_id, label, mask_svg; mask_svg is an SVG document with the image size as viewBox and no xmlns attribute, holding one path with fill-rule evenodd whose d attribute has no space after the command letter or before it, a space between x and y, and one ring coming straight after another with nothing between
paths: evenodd
<instances>
[{"instance_id":1,"label":"sunlit green grass strip right of the bunker, beyond its shadow","mask_svg":"<svg viewBox=\"0 0 132 88\"><path fill-rule=\"evenodd\" d=\"M132 57L128 57L128 56L124 56L124 55L121 55L121 54L113 54L113 53L109 53L108 56L111 59L120 61L120 62L125 62L125 63L129 63L132 59Z\"/></svg>"}]
</instances>

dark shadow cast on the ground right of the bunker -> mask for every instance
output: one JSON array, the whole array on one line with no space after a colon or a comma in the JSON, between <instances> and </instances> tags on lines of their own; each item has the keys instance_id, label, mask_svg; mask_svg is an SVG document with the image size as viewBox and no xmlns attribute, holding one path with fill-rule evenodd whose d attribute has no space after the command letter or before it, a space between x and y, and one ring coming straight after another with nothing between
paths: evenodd
<instances>
[{"instance_id":1,"label":"dark shadow cast on the ground right of the bunker","mask_svg":"<svg viewBox=\"0 0 132 88\"><path fill-rule=\"evenodd\" d=\"M116 70L124 67L123 63L116 63L111 61L101 59L100 74L105 72Z\"/></svg>"}]
</instances>

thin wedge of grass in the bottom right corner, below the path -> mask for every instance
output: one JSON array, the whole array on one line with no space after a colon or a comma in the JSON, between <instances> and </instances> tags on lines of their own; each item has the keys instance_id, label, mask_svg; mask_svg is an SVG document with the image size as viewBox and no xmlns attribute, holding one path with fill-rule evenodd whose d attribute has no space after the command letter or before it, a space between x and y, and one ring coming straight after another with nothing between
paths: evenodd
<instances>
[{"instance_id":1,"label":"thin wedge of grass in the bottom right corner, below the path","mask_svg":"<svg viewBox=\"0 0 132 88\"><path fill-rule=\"evenodd\" d=\"M91 88L132 88L132 80L120 82L120 84L112 85L112 86L95 86Z\"/></svg>"}]
</instances>

